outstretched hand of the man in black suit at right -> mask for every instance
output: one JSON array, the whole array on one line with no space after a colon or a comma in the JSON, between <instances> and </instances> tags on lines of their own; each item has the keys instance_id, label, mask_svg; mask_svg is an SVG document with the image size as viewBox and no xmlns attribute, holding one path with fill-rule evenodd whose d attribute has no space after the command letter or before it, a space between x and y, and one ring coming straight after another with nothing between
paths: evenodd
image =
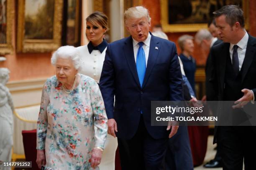
<instances>
[{"instance_id":1,"label":"outstretched hand of the man in black suit at right","mask_svg":"<svg viewBox=\"0 0 256 170\"><path fill-rule=\"evenodd\" d=\"M251 100L253 100L253 93L249 89L243 89L241 90L243 92L243 97L235 101L236 105L233 105L232 108L242 108L243 106L247 105L247 103Z\"/></svg>"}]
</instances>

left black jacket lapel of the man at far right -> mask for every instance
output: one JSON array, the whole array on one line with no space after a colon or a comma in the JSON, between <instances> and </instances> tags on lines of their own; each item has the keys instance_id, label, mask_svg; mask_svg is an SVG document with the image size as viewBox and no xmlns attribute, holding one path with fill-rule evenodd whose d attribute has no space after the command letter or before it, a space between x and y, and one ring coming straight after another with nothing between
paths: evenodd
<instances>
[{"instance_id":1,"label":"left black jacket lapel of the man at far right","mask_svg":"<svg viewBox=\"0 0 256 170\"><path fill-rule=\"evenodd\" d=\"M230 46L230 43L225 43L223 45L223 54L220 54L220 62L217 63L220 65L220 85L221 85L222 91L224 90L224 78L225 78L225 68L226 68L227 57L230 57L229 46Z\"/></svg>"}]
</instances>

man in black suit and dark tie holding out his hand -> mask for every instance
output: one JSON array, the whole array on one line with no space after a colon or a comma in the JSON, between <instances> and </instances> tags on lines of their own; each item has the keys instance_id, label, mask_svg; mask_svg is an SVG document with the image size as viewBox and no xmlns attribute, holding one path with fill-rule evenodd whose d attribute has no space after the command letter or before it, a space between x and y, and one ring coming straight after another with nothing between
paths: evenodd
<instances>
[{"instance_id":1,"label":"man in black suit and dark tie holding out his hand","mask_svg":"<svg viewBox=\"0 0 256 170\"><path fill-rule=\"evenodd\" d=\"M256 38L244 29L243 11L236 5L224 6L213 14L224 43L211 49L213 74L209 83L217 92L218 100L236 101L234 109L230 107L233 114L255 100ZM242 170L243 160L245 169L255 169L255 127L216 126L214 143L216 141L224 170Z\"/></svg>"}]
</instances>

